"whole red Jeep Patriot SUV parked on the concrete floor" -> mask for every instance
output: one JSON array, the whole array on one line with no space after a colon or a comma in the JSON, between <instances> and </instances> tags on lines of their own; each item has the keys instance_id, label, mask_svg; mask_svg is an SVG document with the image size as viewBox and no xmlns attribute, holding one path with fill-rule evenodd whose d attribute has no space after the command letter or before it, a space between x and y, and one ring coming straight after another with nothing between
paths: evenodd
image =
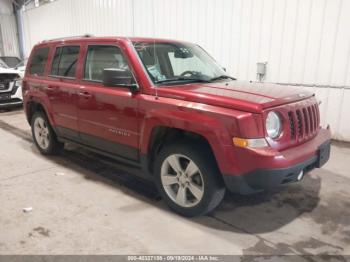
<instances>
[{"instance_id":1,"label":"whole red Jeep Patriot SUV parked on the concrete floor","mask_svg":"<svg viewBox=\"0 0 350 262\"><path fill-rule=\"evenodd\" d=\"M186 42L41 42L23 97L41 153L73 142L138 167L185 216L213 210L226 188L249 194L300 181L330 154L313 93L237 81Z\"/></svg>"}]
</instances>

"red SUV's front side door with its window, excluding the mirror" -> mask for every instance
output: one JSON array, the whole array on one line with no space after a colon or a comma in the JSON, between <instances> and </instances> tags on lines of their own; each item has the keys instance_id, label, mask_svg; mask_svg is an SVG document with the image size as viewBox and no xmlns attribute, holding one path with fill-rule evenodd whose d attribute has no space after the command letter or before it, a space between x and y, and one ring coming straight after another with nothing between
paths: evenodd
<instances>
[{"instance_id":1,"label":"red SUV's front side door with its window, excluding the mirror","mask_svg":"<svg viewBox=\"0 0 350 262\"><path fill-rule=\"evenodd\" d=\"M138 94L104 86L105 68L130 69L114 44L89 44L79 91L78 124L83 143L127 160L138 160Z\"/></svg>"}]
</instances>

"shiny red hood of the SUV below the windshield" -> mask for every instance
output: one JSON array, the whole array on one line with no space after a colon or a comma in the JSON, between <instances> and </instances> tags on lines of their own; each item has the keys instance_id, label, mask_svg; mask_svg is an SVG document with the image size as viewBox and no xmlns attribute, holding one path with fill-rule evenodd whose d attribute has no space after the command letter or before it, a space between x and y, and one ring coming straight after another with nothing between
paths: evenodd
<instances>
[{"instance_id":1,"label":"shiny red hood of the SUV below the windshield","mask_svg":"<svg viewBox=\"0 0 350 262\"><path fill-rule=\"evenodd\" d=\"M213 82L162 86L158 95L260 113L274 106L304 100L314 94L302 88L261 82Z\"/></svg>"}]
</instances>

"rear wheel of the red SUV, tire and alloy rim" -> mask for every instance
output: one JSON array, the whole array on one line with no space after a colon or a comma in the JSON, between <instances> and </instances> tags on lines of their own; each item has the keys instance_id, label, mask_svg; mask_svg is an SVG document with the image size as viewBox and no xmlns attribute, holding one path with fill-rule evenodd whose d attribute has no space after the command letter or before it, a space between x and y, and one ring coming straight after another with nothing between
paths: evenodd
<instances>
[{"instance_id":1,"label":"rear wheel of the red SUV, tire and alloy rim","mask_svg":"<svg viewBox=\"0 0 350 262\"><path fill-rule=\"evenodd\" d=\"M57 140L45 113L35 112L31 119L31 127L34 143L41 154L56 155L62 151L64 144Z\"/></svg>"}]
</instances>

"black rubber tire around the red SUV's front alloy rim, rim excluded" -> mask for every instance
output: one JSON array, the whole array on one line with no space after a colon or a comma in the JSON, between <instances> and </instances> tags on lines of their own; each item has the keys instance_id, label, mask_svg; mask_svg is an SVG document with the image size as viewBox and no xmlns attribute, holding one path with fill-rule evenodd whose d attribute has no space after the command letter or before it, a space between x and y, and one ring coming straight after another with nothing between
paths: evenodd
<instances>
[{"instance_id":1,"label":"black rubber tire around the red SUV's front alloy rim, rim excluded","mask_svg":"<svg viewBox=\"0 0 350 262\"><path fill-rule=\"evenodd\" d=\"M162 184L161 168L163 162L171 155L182 155L192 160L199 168L203 179L204 192L201 200L194 206L183 207L173 200L166 192ZM182 141L163 147L155 162L156 186L167 205L176 213L185 217L201 216L213 211L222 201L225 195L225 185L222 181L220 171L211 151L199 143L193 141ZM176 188L176 186L175 186ZM188 191L185 194L189 194Z\"/></svg>"}]
</instances>

